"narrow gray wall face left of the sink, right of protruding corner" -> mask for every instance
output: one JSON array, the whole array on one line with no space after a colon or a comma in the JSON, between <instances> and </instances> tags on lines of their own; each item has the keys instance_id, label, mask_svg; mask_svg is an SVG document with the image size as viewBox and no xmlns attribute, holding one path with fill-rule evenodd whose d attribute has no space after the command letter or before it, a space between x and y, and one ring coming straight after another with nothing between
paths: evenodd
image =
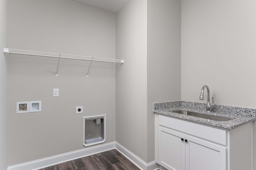
<instances>
[{"instance_id":1,"label":"narrow gray wall face left of the sink, right of protruding corner","mask_svg":"<svg viewBox=\"0 0 256 170\"><path fill-rule=\"evenodd\" d=\"M147 106L148 162L154 160L154 102L180 100L179 0L148 0Z\"/></svg>"}]
</instances>

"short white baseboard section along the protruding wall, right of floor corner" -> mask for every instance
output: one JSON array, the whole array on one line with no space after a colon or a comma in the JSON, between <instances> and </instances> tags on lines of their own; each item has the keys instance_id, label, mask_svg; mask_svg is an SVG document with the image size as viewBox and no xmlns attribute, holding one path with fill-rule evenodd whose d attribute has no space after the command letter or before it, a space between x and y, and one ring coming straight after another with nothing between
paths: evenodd
<instances>
[{"instance_id":1,"label":"short white baseboard section along the protruding wall, right of floor corner","mask_svg":"<svg viewBox=\"0 0 256 170\"><path fill-rule=\"evenodd\" d=\"M130 152L130 150L126 149L122 145L116 142L116 150L118 150L121 154L123 154L126 158L128 158L132 163L134 163L138 168L142 170L157 170L158 165L156 161L152 161L150 163L144 162L144 160L140 159L138 156Z\"/></svg>"}]
</instances>

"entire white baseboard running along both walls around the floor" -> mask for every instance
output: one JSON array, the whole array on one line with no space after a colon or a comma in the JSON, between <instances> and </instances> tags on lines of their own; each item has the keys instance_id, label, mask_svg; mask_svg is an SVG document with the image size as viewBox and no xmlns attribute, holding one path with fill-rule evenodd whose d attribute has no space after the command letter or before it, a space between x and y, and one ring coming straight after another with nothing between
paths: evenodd
<instances>
[{"instance_id":1,"label":"entire white baseboard running along both walls around the floor","mask_svg":"<svg viewBox=\"0 0 256 170\"><path fill-rule=\"evenodd\" d=\"M138 166L142 170L158 170L158 164L155 161L146 163L138 156L130 152L128 149L123 147L117 142L107 143L103 145L98 145L95 147L90 147L86 149L76 150L72 152L67 152L64 154L59 154L56 156L50 156L48 158L38 159L22 164L17 164L13 166L9 166L7 170L38 170L42 168L46 168L49 166L53 166L56 164L60 164L63 162L67 162L70 160L82 158L85 156L90 156L92 154L97 154L100 152L105 152L107 150L116 149L121 154L123 154L126 158L132 161L136 166Z\"/></svg>"}]
</instances>

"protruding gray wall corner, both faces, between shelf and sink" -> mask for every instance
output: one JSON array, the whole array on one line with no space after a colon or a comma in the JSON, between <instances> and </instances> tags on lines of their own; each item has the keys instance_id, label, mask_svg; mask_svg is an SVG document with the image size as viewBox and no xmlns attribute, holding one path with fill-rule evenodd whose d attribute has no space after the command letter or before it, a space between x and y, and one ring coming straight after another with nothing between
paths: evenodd
<instances>
[{"instance_id":1,"label":"protruding gray wall corner, both faces, between shelf and sink","mask_svg":"<svg viewBox=\"0 0 256 170\"><path fill-rule=\"evenodd\" d=\"M180 100L180 1L130 0L116 25L116 139L152 162L152 103Z\"/></svg>"}]
</instances>

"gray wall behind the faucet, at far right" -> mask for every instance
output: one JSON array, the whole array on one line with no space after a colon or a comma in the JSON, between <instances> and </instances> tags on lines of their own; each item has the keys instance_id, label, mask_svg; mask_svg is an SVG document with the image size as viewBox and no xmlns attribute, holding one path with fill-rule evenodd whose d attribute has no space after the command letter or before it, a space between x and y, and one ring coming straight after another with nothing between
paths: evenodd
<instances>
[{"instance_id":1,"label":"gray wall behind the faucet, at far right","mask_svg":"<svg viewBox=\"0 0 256 170\"><path fill-rule=\"evenodd\" d=\"M256 1L182 1L182 100L256 108ZM253 128L256 159L256 124ZM254 170L256 170L256 163Z\"/></svg>"}]
</instances>

